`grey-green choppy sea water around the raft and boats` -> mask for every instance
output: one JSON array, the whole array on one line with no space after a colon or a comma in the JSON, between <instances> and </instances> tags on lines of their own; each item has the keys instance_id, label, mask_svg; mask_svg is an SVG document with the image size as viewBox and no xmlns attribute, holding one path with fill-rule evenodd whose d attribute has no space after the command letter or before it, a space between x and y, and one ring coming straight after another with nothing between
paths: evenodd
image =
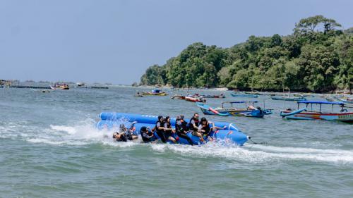
<instances>
[{"instance_id":1,"label":"grey-green choppy sea water around the raft and boats","mask_svg":"<svg viewBox=\"0 0 353 198\"><path fill-rule=\"evenodd\" d=\"M294 102L260 96L273 115L205 117L267 144L114 142L95 128L101 111L203 116L189 101L133 97L143 90L0 88L0 197L353 197L353 125L286 120L278 110ZM215 107L244 100L190 92L225 93Z\"/></svg>"}]
</instances>

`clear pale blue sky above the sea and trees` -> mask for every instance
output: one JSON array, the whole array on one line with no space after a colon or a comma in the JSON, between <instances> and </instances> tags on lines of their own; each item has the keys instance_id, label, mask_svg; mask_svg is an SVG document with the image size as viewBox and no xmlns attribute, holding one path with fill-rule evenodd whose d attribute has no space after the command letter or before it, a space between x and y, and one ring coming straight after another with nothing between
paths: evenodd
<instances>
[{"instance_id":1,"label":"clear pale blue sky above the sea and trees","mask_svg":"<svg viewBox=\"0 0 353 198\"><path fill-rule=\"evenodd\" d=\"M131 84L193 42L289 35L321 14L353 26L353 1L0 0L0 79Z\"/></svg>"}]
</instances>

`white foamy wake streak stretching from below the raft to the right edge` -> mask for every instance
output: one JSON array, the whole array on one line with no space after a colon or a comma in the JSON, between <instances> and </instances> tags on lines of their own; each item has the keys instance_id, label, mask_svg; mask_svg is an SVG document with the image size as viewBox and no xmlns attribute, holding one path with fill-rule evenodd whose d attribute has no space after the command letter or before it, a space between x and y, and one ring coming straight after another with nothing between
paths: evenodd
<instances>
[{"instance_id":1,"label":"white foamy wake streak stretching from below the raft to the right edge","mask_svg":"<svg viewBox=\"0 0 353 198\"><path fill-rule=\"evenodd\" d=\"M341 149L312 149L295 147L274 147L252 145L244 147L222 147L206 144L202 147L180 146L175 144L152 144L152 150L172 151L185 156L220 157L249 163L266 161L305 160L330 163L353 163L353 151Z\"/></svg>"}]
</instances>

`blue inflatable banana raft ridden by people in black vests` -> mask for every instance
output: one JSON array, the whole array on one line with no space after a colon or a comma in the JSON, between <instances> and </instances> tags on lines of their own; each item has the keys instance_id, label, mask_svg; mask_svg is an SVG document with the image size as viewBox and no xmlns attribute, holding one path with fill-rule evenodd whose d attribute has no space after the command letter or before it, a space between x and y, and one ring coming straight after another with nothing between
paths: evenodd
<instances>
[{"instance_id":1,"label":"blue inflatable banana raft ridden by people in black vests","mask_svg":"<svg viewBox=\"0 0 353 198\"><path fill-rule=\"evenodd\" d=\"M154 128L155 123L157 122L157 116L150 115L140 115L133 113L115 113L115 112L102 112L100 113L100 121L97 123L97 129L99 130L116 130L119 128L121 123L126 123L126 126L129 127L132 122L137 122L134 125L135 132L138 134L140 128L143 126ZM186 119L187 120L187 119ZM175 126L176 118L171 118L172 126ZM217 130L217 132L212 132L210 137L214 137L216 141L225 140L227 142L232 142L239 146L242 146L250 137L246 136L241 132L234 123L225 123L225 122L214 122L215 126L220 128L225 128L224 130ZM187 134L191 137L194 144L203 144L200 139L196 136L193 136L191 132ZM155 132L155 136L158 135ZM177 137L177 135L175 134ZM189 144L184 138L179 139L177 143L179 144ZM172 142L170 142L172 143Z\"/></svg>"}]
</instances>

